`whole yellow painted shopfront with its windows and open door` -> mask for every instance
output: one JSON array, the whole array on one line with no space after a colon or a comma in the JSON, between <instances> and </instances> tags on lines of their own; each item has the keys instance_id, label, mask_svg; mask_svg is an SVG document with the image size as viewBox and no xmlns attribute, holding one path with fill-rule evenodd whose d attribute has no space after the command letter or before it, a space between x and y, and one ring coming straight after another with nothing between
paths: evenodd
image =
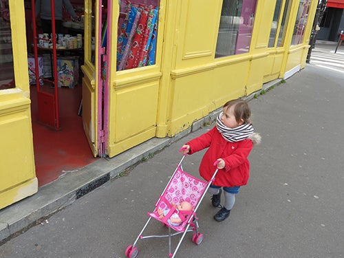
<instances>
[{"instance_id":1,"label":"whole yellow painted shopfront with its windows and open door","mask_svg":"<svg viewBox=\"0 0 344 258\"><path fill-rule=\"evenodd\" d=\"M85 0L83 125L94 156L116 158L151 138L175 136L227 100L298 72L305 67L316 5L314 0ZM12 31L25 28L23 9L22 1L10 6ZM130 35L141 25L151 26L147 38ZM0 165L0 208L37 191L26 48L17 43L25 41L23 35L12 33L15 87L0 90L1 157L6 157ZM133 54L135 45L141 50ZM14 197L13 189L23 194Z\"/></svg>"}]
</instances>

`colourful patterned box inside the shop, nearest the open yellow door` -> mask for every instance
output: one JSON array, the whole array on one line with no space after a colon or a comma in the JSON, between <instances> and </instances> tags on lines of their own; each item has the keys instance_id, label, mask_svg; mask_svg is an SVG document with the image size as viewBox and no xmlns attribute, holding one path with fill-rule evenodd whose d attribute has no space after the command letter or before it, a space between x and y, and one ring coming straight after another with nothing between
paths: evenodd
<instances>
[{"instance_id":1,"label":"colourful patterned box inside the shop, nearest the open yellow door","mask_svg":"<svg viewBox=\"0 0 344 258\"><path fill-rule=\"evenodd\" d=\"M74 88L79 80L78 56L57 58L58 87Z\"/></svg>"}]
</instances>

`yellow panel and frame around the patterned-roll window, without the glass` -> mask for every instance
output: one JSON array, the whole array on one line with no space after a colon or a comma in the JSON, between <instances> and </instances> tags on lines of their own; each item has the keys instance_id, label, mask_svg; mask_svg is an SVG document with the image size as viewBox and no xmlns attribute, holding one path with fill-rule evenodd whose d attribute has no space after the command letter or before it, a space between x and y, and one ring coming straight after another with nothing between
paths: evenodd
<instances>
[{"instance_id":1,"label":"yellow panel and frame around the patterned-roll window, without the glass","mask_svg":"<svg viewBox=\"0 0 344 258\"><path fill-rule=\"evenodd\" d=\"M114 157L131 147L153 138L156 134L160 94L162 40L166 1L160 1L158 43L155 65L116 72L117 35L111 34L109 61L109 138L107 154ZM113 5L114 13L119 12ZM118 19L111 21L118 27Z\"/></svg>"}]
</instances>

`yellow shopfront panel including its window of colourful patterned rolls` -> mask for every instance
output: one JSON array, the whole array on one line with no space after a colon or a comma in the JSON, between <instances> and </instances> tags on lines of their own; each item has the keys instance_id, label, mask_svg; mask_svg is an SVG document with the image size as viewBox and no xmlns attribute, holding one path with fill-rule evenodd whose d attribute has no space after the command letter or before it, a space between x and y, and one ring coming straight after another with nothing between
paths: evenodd
<instances>
[{"instance_id":1,"label":"yellow shopfront panel including its window of colourful patterned rolls","mask_svg":"<svg viewBox=\"0 0 344 258\"><path fill-rule=\"evenodd\" d=\"M165 2L136 0L131 6L128 1L115 1L108 15L112 17L109 32L118 32L111 33L107 47L111 56L105 88L109 103L105 103L104 138L110 158L154 138L158 116L166 114L161 109L158 112L159 105L163 105L163 100L159 103L160 94L164 100L169 94L166 84L162 83L160 89Z\"/></svg>"}]
</instances>

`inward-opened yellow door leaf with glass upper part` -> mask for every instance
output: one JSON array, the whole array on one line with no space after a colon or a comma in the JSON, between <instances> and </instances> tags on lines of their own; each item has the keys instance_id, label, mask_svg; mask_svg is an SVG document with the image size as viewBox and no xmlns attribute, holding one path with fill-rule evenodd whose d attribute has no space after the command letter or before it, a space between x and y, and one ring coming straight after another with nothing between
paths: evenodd
<instances>
[{"instance_id":1,"label":"inward-opened yellow door leaf with glass upper part","mask_svg":"<svg viewBox=\"0 0 344 258\"><path fill-rule=\"evenodd\" d=\"M103 143L102 0L85 0L85 63L83 70L83 127L94 157Z\"/></svg>"}]
</instances>

